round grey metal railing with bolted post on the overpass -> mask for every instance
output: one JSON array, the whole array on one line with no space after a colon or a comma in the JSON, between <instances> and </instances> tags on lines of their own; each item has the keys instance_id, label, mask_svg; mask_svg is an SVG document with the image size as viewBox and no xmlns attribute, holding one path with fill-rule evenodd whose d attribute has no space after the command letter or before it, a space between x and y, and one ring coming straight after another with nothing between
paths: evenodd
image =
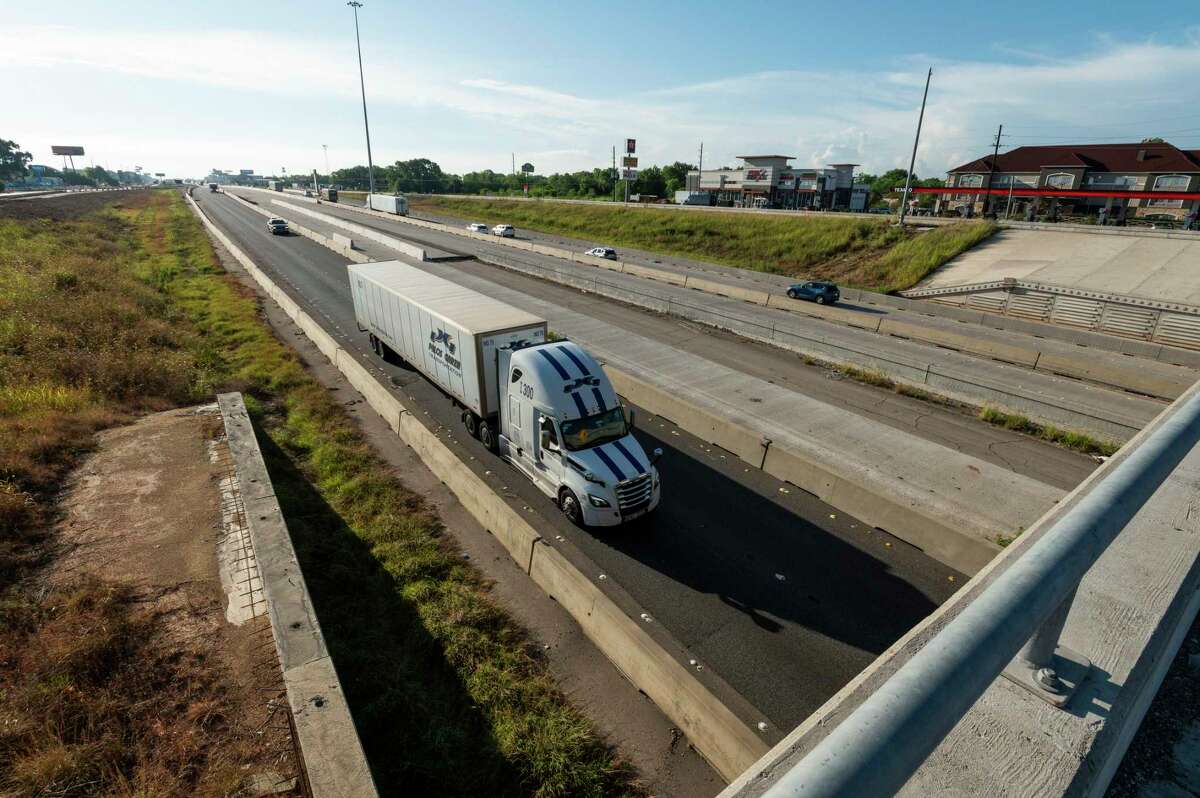
<instances>
[{"instance_id":1,"label":"round grey metal railing with bolted post on the overpass","mask_svg":"<svg viewBox=\"0 0 1200 798\"><path fill-rule=\"evenodd\" d=\"M1063 706L1090 670L1086 659L1057 644L1080 580L1198 442L1200 383L763 794L894 794L1002 672Z\"/></svg>"}]
</instances>

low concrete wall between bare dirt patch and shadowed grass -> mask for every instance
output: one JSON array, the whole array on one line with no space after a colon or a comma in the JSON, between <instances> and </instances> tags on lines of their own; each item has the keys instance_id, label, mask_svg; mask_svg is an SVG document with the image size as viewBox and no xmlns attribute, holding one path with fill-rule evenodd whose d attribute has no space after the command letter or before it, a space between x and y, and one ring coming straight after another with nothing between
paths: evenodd
<instances>
[{"instance_id":1,"label":"low concrete wall between bare dirt patch and shadowed grass","mask_svg":"<svg viewBox=\"0 0 1200 798\"><path fill-rule=\"evenodd\" d=\"M334 660L275 498L241 394L217 396L245 505L263 598L313 798L377 796Z\"/></svg>"}]
</instances>

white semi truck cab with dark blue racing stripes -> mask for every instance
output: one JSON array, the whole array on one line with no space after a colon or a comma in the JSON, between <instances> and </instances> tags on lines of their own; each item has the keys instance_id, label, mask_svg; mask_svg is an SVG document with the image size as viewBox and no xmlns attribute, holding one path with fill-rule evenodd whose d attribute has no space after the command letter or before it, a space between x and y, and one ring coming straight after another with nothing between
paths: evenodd
<instances>
[{"instance_id":1,"label":"white semi truck cab with dark blue racing stripes","mask_svg":"<svg viewBox=\"0 0 1200 798\"><path fill-rule=\"evenodd\" d=\"M499 454L575 523L610 527L653 511L661 496L604 370L570 341L497 352Z\"/></svg>"}]
</instances>

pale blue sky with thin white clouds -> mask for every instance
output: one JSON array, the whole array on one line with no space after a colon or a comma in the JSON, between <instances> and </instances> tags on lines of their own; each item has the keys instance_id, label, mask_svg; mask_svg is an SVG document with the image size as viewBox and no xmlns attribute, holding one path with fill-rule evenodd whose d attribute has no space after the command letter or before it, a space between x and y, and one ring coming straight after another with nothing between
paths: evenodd
<instances>
[{"instance_id":1,"label":"pale blue sky with thin white clouds","mask_svg":"<svg viewBox=\"0 0 1200 798\"><path fill-rule=\"evenodd\" d=\"M0 138L35 163L169 176L366 162L353 11L342 0L5 2ZM991 149L1162 136L1200 148L1194 0L708 2L365 0L377 164L542 174L780 154L796 166L907 166Z\"/></svg>"}]
</instances>

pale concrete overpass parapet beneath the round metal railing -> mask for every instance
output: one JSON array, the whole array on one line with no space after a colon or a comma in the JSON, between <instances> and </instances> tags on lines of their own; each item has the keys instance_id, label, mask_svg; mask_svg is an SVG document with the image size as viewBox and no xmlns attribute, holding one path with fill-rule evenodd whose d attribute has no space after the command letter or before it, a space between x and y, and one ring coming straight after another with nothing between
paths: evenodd
<instances>
[{"instance_id":1,"label":"pale concrete overpass parapet beneath the round metal railing","mask_svg":"<svg viewBox=\"0 0 1200 798\"><path fill-rule=\"evenodd\" d=\"M1169 418L1164 410L1152 425ZM721 798L757 798L811 751L1027 546L1129 457L1147 427L1105 467L1038 520L950 599L893 643L869 667L736 779ZM1079 692L1062 709L997 677L908 780L900 796L1105 794L1180 644L1200 610L1200 448L1184 456L1108 551L1084 576L1062 630L1062 644L1092 660Z\"/></svg>"}]
</instances>

